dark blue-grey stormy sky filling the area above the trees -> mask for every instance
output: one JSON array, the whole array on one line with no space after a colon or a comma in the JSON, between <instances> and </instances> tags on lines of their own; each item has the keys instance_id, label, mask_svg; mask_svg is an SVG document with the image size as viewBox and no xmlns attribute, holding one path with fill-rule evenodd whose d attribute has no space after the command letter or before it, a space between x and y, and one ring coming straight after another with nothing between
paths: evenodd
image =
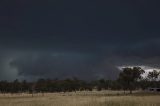
<instances>
[{"instance_id":1,"label":"dark blue-grey stormy sky filling the area above the trees","mask_svg":"<svg viewBox=\"0 0 160 106\"><path fill-rule=\"evenodd\" d=\"M1 0L0 80L115 79L160 68L159 0Z\"/></svg>"}]
</instances>

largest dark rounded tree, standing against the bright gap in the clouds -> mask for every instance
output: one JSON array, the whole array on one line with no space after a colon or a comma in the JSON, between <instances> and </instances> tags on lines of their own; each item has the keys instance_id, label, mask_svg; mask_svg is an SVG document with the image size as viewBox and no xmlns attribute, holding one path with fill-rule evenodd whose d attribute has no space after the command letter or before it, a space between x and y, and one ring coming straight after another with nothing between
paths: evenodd
<instances>
[{"instance_id":1,"label":"largest dark rounded tree, standing against the bright gap in the clouds","mask_svg":"<svg viewBox=\"0 0 160 106\"><path fill-rule=\"evenodd\" d=\"M122 88L125 90L130 90L130 94L132 90L135 88L135 83L141 79L141 74L145 71L140 67L133 67L133 68L124 68L122 72L119 74L119 82L122 85Z\"/></svg>"}]
</instances>

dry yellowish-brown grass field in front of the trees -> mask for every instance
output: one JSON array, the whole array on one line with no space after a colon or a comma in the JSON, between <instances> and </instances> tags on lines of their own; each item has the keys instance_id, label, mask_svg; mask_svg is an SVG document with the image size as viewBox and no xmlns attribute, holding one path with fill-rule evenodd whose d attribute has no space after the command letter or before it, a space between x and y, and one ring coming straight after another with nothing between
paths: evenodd
<instances>
[{"instance_id":1,"label":"dry yellowish-brown grass field in front of the trees","mask_svg":"<svg viewBox=\"0 0 160 106\"><path fill-rule=\"evenodd\" d=\"M160 95L122 95L120 91L0 94L0 106L160 106Z\"/></svg>"}]
</instances>

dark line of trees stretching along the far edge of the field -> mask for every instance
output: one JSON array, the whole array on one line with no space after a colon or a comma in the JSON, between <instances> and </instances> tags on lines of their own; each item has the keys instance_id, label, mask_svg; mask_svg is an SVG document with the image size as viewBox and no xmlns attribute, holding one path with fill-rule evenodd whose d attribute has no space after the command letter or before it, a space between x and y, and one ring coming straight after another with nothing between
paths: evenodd
<instances>
[{"instance_id":1,"label":"dark line of trees stretching along the far edge of the field","mask_svg":"<svg viewBox=\"0 0 160 106\"><path fill-rule=\"evenodd\" d=\"M136 89L147 89L149 87L160 88L158 80L160 73L156 70L148 73L143 78L145 71L140 67L124 68L117 80L99 79L95 81L83 81L77 78L38 79L35 82L15 80L13 82L0 81L1 93L47 93L47 92L76 92L92 90L129 90L132 93Z\"/></svg>"}]
</instances>

